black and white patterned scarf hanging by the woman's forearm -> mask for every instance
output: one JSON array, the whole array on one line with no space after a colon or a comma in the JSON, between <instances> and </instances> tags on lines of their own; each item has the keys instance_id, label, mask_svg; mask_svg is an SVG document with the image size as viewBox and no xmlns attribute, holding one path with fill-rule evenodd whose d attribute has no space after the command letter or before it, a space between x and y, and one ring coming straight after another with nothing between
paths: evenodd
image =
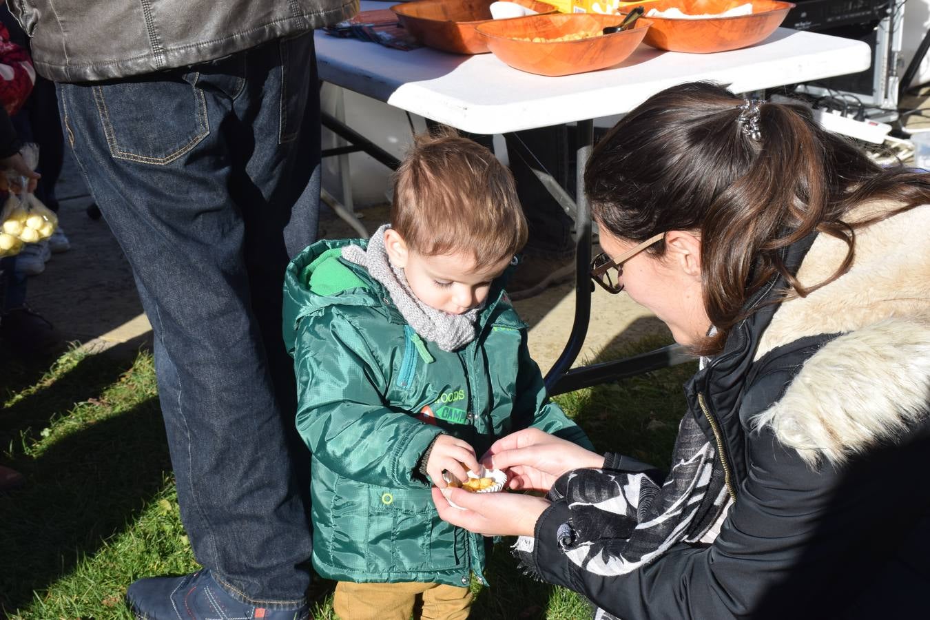
<instances>
[{"instance_id":1,"label":"black and white patterned scarf hanging by the woman's forearm","mask_svg":"<svg viewBox=\"0 0 930 620\"><path fill-rule=\"evenodd\" d=\"M559 546L580 569L599 575L629 574L680 542L698 542L718 523L727 505L717 450L694 416L681 422L665 482L618 469L575 469L555 481L547 497L565 499L569 521L558 530ZM513 546L525 573L534 566L535 539ZM597 620L613 618L597 610Z\"/></svg>"}]
</instances>

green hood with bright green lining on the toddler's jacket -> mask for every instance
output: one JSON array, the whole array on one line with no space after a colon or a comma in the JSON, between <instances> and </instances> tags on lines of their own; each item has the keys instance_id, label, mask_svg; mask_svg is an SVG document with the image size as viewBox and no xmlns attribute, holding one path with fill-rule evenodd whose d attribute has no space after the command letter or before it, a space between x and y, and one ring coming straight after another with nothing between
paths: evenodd
<instances>
[{"instance_id":1,"label":"green hood with bright green lining on the toddler's jacket","mask_svg":"<svg viewBox=\"0 0 930 620\"><path fill-rule=\"evenodd\" d=\"M340 260L346 245L368 244L365 239L325 239L310 245L291 260L285 271L284 337L294 350L299 320L327 306L383 306L382 286L364 268Z\"/></svg>"}]
</instances>

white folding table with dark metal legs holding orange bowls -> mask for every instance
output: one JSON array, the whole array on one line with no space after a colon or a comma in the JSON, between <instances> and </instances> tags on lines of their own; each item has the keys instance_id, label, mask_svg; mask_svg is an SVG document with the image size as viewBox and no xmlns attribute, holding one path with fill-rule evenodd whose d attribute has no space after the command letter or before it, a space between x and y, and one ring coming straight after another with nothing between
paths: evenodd
<instances>
[{"instance_id":1,"label":"white folding table with dark metal legs holding orange bowls","mask_svg":"<svg viewBox=\"0 0 930 620\"><path fill-rule=\"evenodd\" d=\"M370 10L394 3L361 4L362 10ZM615 68L563 77L517 71L492 54L458 56L426 47L402 51L323 32L316 33L315 42L321 80L462 131L503 134L578 124L575 204L569 206L567 193L538 172L547 189L574 212L577 232L575 322L565 350L546 376L552 394L683 359L672 346L630 360L569 370L584 342L591 312L591 216L581 184L591 154L593 119L630 112L658 91L683 82L709 80L734 93L749 93L857 73L868 69L871 61L870 47L861 41L786 28L756 46L716 54L663 52L641 45ZM325 115L324 124L396 167L392 155L332 117Z\"/></svg>"}]
</instances>

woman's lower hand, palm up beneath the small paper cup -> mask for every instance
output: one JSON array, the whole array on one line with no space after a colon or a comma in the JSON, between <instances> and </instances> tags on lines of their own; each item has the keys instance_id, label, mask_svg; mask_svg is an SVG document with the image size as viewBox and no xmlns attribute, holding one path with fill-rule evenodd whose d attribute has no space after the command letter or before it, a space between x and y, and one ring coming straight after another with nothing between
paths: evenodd
<instances>
[{"instance_id":1,"label":"woman's lower hand, palm up beneath the small paper cup","mask_svg":"<svg viewBox=\"0 0 930 620\"><path fill-rule=\"evenodd\" d=\"M462 508L451 506L446 497ZM469 493L455 487L432 487L432 503L443 521L485 536L532 536L539 515L550 506L550 501L542 497Z\"/></svg>"}]
</instances>

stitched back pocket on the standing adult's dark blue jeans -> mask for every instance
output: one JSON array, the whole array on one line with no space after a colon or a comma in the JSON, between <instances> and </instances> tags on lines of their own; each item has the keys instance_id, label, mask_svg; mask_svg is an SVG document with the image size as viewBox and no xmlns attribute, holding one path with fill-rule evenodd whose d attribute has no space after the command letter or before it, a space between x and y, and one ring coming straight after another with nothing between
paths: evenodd
<instances>
[{"instance_id":1,"label":"stitched back pocket on the standing adult's dark blue jeans","mask_svg":"<svg viewBox=\"0 0 930 620\"><path fill-rule=\"evenodd\" d=\"M199 73L93 86L100 124L116 159L166 165L210 133Z\"/></svg>"}]
</instances>

